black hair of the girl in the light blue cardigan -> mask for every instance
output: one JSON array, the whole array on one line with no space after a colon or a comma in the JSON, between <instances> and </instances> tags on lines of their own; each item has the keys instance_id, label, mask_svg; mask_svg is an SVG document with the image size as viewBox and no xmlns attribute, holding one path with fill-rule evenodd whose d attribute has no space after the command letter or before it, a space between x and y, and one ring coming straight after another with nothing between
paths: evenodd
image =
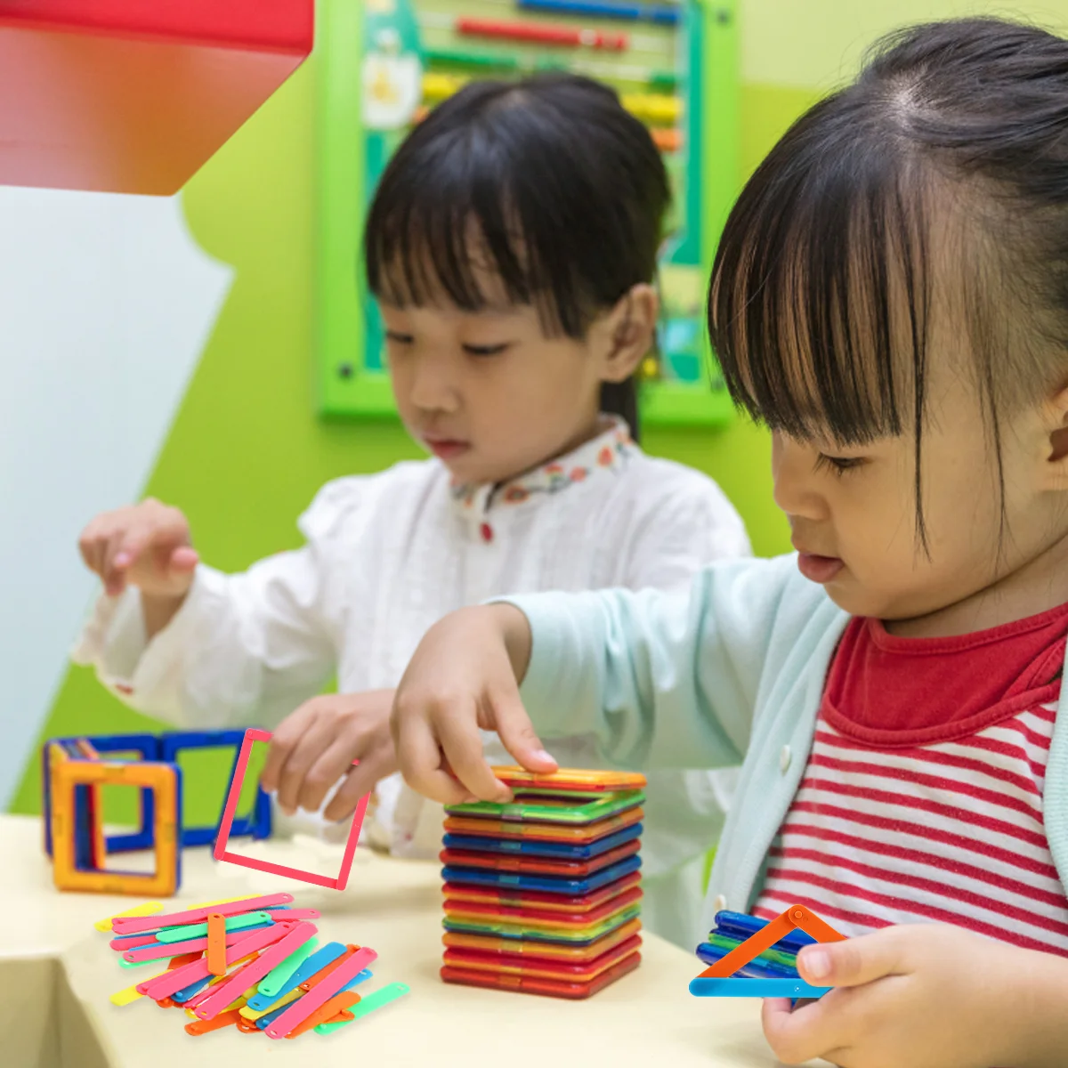
<instances>
[{"instance_id":1,"label":"black hair of the girl in the light blue cardigan","mask_svg":"<svg viewBox=\"0 0 1068 1068\"><path fill-rule=\"evenodd\" d=\"M911 434L925 550L929 327L946 303L1004 533L999 410L1068 370L1068 42L1043 30L971 18L884 37L754 173L712 268L709 329L736 405L801 439Z\"/></svg>"}]
</instances>

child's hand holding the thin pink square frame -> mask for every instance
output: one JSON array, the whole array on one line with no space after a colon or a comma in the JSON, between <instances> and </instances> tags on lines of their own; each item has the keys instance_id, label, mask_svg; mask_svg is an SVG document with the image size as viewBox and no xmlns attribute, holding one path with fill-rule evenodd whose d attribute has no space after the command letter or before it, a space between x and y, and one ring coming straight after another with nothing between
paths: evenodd
<instances>
[{"instance_id":1,"label":"child's hand holding the thin pink square frame","mask_svg":"<svg viewBox=\"0 0 1068 1068\"><path fill-rule=\"evenodd\" d=\"M278 803L318 812L327 794L347 772L324 817L342 820L356 812L364 794L397 770L390 736L392 690L330 694L304 702L274 732L260 785L278 790ZM359 760L357 768L352 761Z\"/></svg>"}]
</instances>

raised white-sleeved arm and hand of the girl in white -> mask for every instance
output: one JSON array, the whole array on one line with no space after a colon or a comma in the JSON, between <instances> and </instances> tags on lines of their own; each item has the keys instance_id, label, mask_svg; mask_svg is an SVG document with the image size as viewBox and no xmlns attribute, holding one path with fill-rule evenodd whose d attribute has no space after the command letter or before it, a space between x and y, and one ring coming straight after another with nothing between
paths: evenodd
<instances>
[{"instance_id":1,"label":"raised white-sleeved arm and hand of the girl in white","mask_svg":"<svg viewBox=\"0 0 1068 1068\"><path fill-rule=\"evenodd\" d=\"M335 560L337 496L324 491L302 517L301 549L240 575L197 562L176 509L146 502L94 521L80 547L105 596L75 660L95 666L127 704L169 722L272 728L335 668L334 624L347 595ZM179 552L192 567L176 566Z\"/></svg>"}]
</instances>

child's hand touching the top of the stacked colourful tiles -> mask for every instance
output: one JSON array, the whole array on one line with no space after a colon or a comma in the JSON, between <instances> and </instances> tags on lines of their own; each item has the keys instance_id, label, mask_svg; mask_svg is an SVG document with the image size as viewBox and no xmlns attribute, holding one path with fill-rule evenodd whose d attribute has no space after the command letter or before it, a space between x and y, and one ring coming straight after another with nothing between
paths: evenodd
<instances>
[{"instance_id":1,"label":"child's hand touching the top of the stacked colourful tiles","mask_svg":"<svg viewBox=\"0 0 1068 1068\"><path fill-rule=\"evenodd\" d=\"M528 770L556 770L519 700L530 654L527 616L511 604L461 609L426 632L392 716L397 763L412 789L444 804L512 800L483 756L480 728L496 731Z\"/></svg>"}]
</instances>

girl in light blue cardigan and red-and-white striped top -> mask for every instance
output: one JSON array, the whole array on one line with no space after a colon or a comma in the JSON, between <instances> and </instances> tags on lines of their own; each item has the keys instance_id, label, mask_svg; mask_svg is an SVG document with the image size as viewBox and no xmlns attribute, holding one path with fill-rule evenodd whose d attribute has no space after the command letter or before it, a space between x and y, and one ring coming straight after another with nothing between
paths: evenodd
<instances>
[{"instance_id":1,"label":"girl in light blue cardigan and red-and-white striped top","mask_svg":"<svg viewBox=\"0 0 1068 1068\"><path fill-rule=\"evenodd\" d=\"M835 989L765 1003L782 1059L1064 1065L1068 42L892 36L748 184L708 313L797 554L443 621L405 776L507 799L476 725L532 770L577 725L624 766L743 759L707 922L801 902L847 936L799 955Z\"/></svg>"}]
</instances>

